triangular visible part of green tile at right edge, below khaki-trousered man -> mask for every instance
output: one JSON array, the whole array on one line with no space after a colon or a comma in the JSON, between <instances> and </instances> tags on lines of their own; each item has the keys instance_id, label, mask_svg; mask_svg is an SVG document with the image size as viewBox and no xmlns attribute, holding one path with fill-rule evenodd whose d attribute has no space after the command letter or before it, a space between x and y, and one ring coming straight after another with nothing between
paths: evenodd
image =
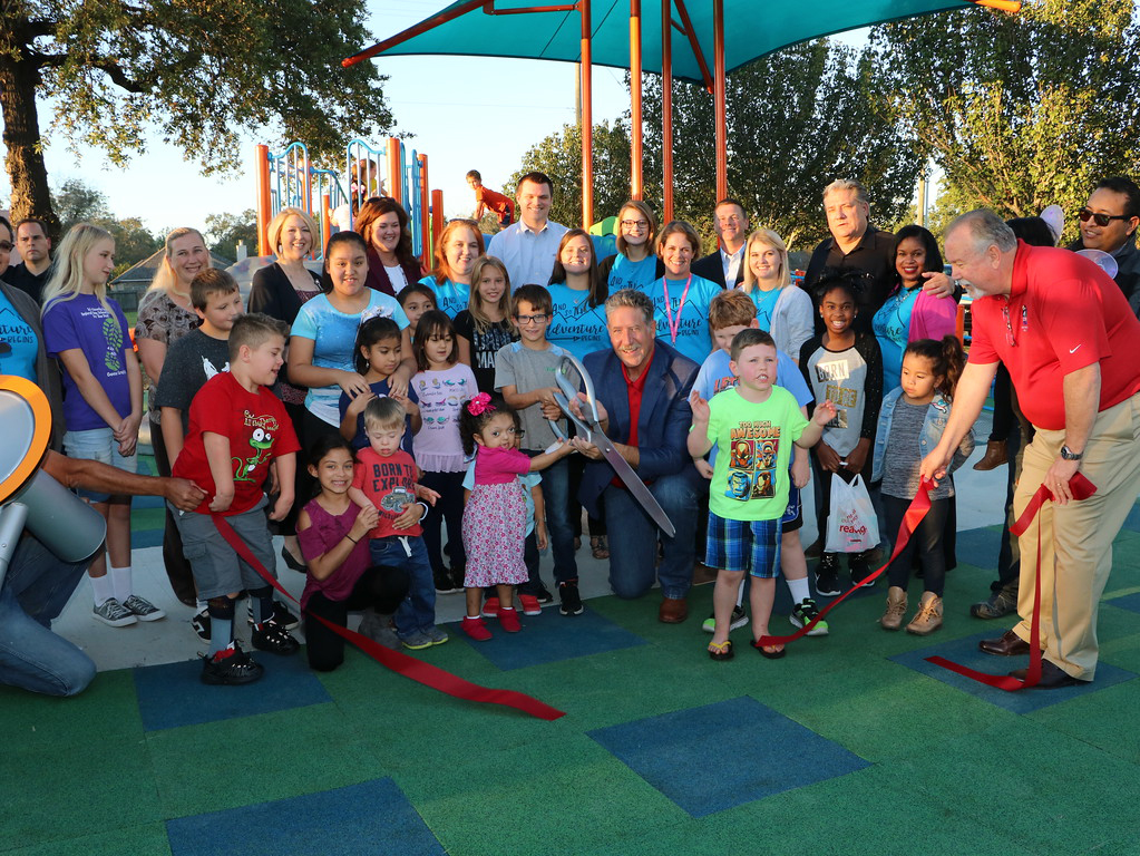
<instances>
[{"instance_id":1,"label":"triangular visible part of green tile at right edge, below khaki-trousered man","mask_svg":"<svg viewBox=\"0 0 1140 856\"><path fill-rule=\"evenodd\" d=\"M1043 708L1031 714L1029 718L1130 764L1140 764L1140 732L1132 727L1138 708L1140 680L1129 680ZM1124 724L1127 726L1122 727ZM1137 849L1140 850L1140 843Z\"/></svg>"}]
</instances>

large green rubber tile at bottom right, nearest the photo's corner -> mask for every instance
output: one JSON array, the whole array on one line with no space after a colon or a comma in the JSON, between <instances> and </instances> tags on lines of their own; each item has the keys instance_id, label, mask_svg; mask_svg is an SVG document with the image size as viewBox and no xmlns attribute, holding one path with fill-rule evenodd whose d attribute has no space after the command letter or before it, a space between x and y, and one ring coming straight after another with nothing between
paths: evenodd
<instances>
[{"instance_id":1,"label":"large green rubber tile at bottom right, nearest the photo's corner","mask_svg":"<svg viewBox=\"0 0 1140 856\"><path fill-rule=\"evenodd\" d=\"M1135 765L1026 717L891 767L910 783L911 799L954 806L1035 853L1096 853L1140 830Z\"/></svg>"}]
</instances>

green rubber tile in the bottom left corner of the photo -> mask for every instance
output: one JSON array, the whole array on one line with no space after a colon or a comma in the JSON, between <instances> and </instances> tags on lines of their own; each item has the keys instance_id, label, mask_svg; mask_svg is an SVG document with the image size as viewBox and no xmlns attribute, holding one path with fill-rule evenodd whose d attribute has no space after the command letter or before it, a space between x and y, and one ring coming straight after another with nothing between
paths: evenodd
<instances>
[{"instance_id":1,"label":"green rubber tile in the bottom left corner of the photo","mask_svg":"<svg viewBox=\"0 0 1140 856\"><path fill-rule=\"evenodd\" d=\"M84 742L0 752L0 850L161 820L146 741L73 727Z\"/></svg>"}]
</instances>

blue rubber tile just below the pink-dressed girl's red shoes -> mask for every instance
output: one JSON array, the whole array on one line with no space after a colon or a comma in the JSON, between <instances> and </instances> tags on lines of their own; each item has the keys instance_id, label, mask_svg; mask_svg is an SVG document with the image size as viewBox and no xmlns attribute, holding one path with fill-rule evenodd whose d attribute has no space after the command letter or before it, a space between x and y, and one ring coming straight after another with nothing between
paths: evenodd
<instances>
[{"instance_id":1,"label":"blue rubber tile just below the pink-dressed girl's red shoes","mask_svg":"<svg viewBox=\"0 0 1140 856\"><path fill-rule=\"evenodd\" d=\"M498 621L484 619L494 635L487 642L472 642L456 625L453 634L503 671L529 666L602 654L608 651L644 645L645 639L600 615L588 606L580 615L560 615L548 609L542 615L520 615L522 633L504 633Z\"/></svg>"}]
</instances>

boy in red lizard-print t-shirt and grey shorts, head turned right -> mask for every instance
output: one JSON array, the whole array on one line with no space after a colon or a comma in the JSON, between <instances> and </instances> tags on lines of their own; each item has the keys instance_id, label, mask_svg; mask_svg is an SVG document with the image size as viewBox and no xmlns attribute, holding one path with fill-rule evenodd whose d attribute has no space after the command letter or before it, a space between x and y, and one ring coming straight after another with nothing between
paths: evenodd
<instances>
[{"instance_id":1,"label":"boy in red lizard-print t-shirt and grey shorts, head turned right","mask_svg":"<svg viewBox=\"0 0 1140 856\"><path fill-rule=\"evenodd\" d=\"M194 512L174 512L198 597L210 611L205 684L249 684L262 668L234 642L234 601L244 588L253 602L253 646L292 654L299 645L272 620L272 588L238 559L213 516L226 521L261 564L272 571L272 538L262 489L276 471L280 496L269 514L280 520L293 505L293 474L300 445L285 406L270 391L285 352L288 328L266 315L246 315L229 334L229 372L211 377L190 402L186 445L174 462L178 478L206 491Z\"/></svg>"}]
</instances>

